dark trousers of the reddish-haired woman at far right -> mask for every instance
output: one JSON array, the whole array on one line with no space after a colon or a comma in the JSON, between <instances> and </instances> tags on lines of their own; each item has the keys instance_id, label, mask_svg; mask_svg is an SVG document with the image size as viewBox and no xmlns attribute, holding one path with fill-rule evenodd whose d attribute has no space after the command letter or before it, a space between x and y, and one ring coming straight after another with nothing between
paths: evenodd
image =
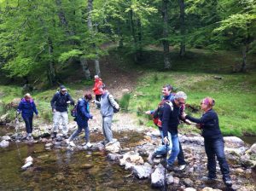
<instances>
[{"instance_id":1,"label":"dark trousers of the reddish-haired woman at far right","mask_svg":"<svg viewBox=\"0 0 256 191\"><path fill-rule=\"evenodd\" d=\"M218 159L218 165L220 167L220 171L223 175L224 180L230 178L230 168L225 159L224 153L224 140L223 138L218 138L215 140L208 141L205 139L205 149L207 153L207 169L208 169L208 177L216 177L216 159Z\"/></svg>"}]
</instances>

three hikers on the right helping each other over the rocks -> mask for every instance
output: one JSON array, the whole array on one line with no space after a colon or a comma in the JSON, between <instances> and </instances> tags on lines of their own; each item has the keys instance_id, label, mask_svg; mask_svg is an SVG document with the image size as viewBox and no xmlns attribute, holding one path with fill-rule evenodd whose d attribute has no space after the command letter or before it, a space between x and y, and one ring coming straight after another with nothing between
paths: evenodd
<instances>
[{"instance_id":1,"label":"three hikers on the right helping each other over the rocks","mask_svg":"<svg viewBox=\"0 0 256 191\"><path fill-rule=\"evenodd\" d=\"M224 139L219 129L218 114L212 109L215 105L214 99L206 97L201 101L201 109L204 113L200 119L196 119L184 111L187 95L183 91L172 93L172 86L166 84L162 88L162 94L162 100L157 109L145 112L153 116L154 124L158 126L162 138L162 145L149 154L148 162L153 164L157 155L167 156L167 153L171 151L169 158L166 159L166 169L169 171L183 171L186 162L181 143L178 140L177 126L181 120L186 124L195 123L196 127L202 132L207 153L208 175L205 179L214 180L217 178L215 159L217 157L224 184L231 187L230 168L225 159ZM174 161L176 158L179 167L175 169Z\"/></svg>"}]
</instances>

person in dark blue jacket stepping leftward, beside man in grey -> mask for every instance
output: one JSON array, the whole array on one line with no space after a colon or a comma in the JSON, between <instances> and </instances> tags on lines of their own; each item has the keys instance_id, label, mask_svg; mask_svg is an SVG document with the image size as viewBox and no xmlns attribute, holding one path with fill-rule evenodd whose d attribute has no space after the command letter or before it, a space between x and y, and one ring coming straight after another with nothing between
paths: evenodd
<instances>
[{"instance_id":1,"label":"person in dark blue jacket stepping leftward, beside man in grey","mask_svg":"<svg viewBox=\"0 0 256 191\"><path fill-rule=\"evenodd\" d=\"M83 99L79 99L77 106L77 117L76 121L78 124L78 130L74 131L72 136L70 136L67 140L67 143L71 146L75 146L73 143L74 137L78 136L79 133L84 129L84 138L85 138L85 146L84 148L90 148L90 130L88 127L88 120L92 119L93 116L90 114L89 102L91 101L92 96L90 94L85 94Z\"/></svg>"}]
</instances>

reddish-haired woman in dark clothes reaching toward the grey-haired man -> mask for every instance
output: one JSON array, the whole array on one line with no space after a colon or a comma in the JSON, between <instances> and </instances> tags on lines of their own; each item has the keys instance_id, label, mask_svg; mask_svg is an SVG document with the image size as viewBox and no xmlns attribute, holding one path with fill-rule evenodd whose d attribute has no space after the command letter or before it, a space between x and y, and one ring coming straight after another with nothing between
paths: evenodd
<instances>
[{"instance_id":1,"label":"reddish-haired woman in dark clothes reaching toward the grey-haired man","mask_svg":"<svg viewBox=\"0 0 256 191\"><path fill-rule=\"evenodd\" d=\"M218 114L212 109L215 101L211 97L206 97L201 101L201 109L204 111L200 119L193 118L183 113L184 119L189 119L197 124L197 127L202 130L202 136L205 140L205 149L207 153L207 169L208 180L216 179L216 159L217 156L220 171L223 175L224 183L227 187L232 186L230 179L230 168L225 159L224 139L219 129Z\"/></svg>"}]
</instances>

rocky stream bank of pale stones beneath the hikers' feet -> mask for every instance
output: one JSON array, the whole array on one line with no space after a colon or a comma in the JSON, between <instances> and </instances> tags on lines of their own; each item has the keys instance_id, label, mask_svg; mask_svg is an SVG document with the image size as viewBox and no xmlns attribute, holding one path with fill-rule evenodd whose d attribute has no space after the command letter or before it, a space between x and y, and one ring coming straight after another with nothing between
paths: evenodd
<instances>
[{"instance_id":1,"label":"rocky stream bank of pale stones beneath the hikers' feet","mask_svg":"<svg viewBox=\"0 0 256 191\"><path fill-rule=\"evenodd\" d=\"M119 121L119 119L115 119ZM15 123L15 122L14 122ZM16 124L9 124L15 126ZM63 149L71 151L90 150L92 152L101 151L107 154L107 159L113 163L123 166L124 171L130 171L131 175L138 179L148 179L154 188L163 188L164 182L168 185L168 190L225 190L222 176L218 167L218 178L215 181L205 181L203 177L207 175L207 156L204 151L203 138L196 133L180 135L180 142L183 145L183 153L188 163L184 171L166 171L165 159L158 157L154 159L154 164L148 164L148 154L152 153L160 145L160 135L158 130L150 128L139 128L134 126L122 126L121 123L113 123L113 130L119 134L119 140L103 145L100 139L92 143L91 148L85 148L83 137L79 136L71 147L61 134L55 140L49 136L51 125L37 125L33 130L33 141L22 139L25 135L24 124L19 124L19 130L1 136L0 147L8 147L10 142L37 143L45 142L45 150ZM90 133L101 135L101 124L90 121ZM11 127L10 127L11 128ZM76 124L71 122L69 130L76 129ZM129 132L127 133L127 130ZM126 131L126 135L122 136ZM132 133L131 133L132 132ZM141 138L137 142L129 143L129 134L140 134ZM102 136L99 136L102 139ZM120 141L120 142L119 142ZM247 146L240 138L235 136L224 137L226 158L230 164L230 175L235 190L255 190L255 165L256 165L256 144Z\"/></svg>"}]
</instances>

